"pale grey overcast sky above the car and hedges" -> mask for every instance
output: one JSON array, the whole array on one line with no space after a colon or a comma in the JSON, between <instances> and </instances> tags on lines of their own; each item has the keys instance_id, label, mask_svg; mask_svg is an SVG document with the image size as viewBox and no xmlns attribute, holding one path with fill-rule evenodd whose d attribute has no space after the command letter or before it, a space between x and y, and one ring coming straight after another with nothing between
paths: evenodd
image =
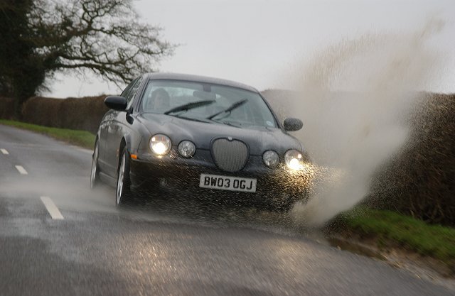
<instances>
[{"instance_id":1,"label":"pale grey overcast sky above the car and hedges","mask_svg":"<svg viewBox=\"0 0 455 296\"><path fill-rule=\"evenodd\" d=\"M441 79L426 90L455 92L455 0L137 0L147 23L178 44L161 72L219 77L259 90L279 88L301 61L341 40L366 33L419 30L429 18L445 21L432 38L444 55ZM57 75L48 97L119 94L92 75Z\"/></svg>"}]
</instances>

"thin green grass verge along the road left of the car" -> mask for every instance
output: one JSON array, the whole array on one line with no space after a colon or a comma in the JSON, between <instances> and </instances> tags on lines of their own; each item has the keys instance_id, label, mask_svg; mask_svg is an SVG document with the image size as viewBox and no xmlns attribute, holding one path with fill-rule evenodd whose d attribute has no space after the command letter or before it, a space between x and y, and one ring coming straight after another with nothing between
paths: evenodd
<instances>
[{"instance_id":1,"label":"thin green grass verge along the road left of the car","mask_svg":"<svg viewBox=\"0 0 455 296\"><path fill-rule=\"evenodd\" d=\"M6 119L0 119L0 124L4 124L6 126L15 126L17 128L23 128L28 131L35 131L37 133L43 133L46 136L51 136L58 140L65 141L73 145L82 146L87 149L92 149L95 145L95 135L88 131L75 131L67 128L50 128L47 126L37 126L36 124L26 124L24 122Z\"/></svg>"}]
</instances>

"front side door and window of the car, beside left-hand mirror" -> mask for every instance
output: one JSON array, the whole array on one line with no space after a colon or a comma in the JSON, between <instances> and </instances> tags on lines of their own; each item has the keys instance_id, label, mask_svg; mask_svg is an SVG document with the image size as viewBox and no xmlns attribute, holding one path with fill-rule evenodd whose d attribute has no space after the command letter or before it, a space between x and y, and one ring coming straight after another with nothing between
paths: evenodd
<instances>
[{"instance_id":1,"label":"front side door and window of the car, beside left-hand mirror","mask_svg":"<svg viewBox=\"0 0 455 296\"><path fill-rule=\"evenodd\" d=\"M142 77L138 77L133 80L131 87L125 94L127 99L127 109L129 109L136 97L139 86L141 85ZM117 176L117 167L119 154L122 151L119 150L122 137L129 130L130 124L127 122L127 113L125 111L113 111L112 122L107 128L107 141L106 141L106 160L109 163L109 175L112 177Z\"/></svg>"}]
</instances>

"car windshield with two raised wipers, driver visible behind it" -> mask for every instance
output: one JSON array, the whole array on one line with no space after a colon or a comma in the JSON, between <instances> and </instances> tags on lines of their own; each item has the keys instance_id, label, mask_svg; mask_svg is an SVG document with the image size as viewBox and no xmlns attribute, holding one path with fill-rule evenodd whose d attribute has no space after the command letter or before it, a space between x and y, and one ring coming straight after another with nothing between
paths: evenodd
<instances>
[{"instance_id":1,"label":"car windshield with two raised wipers, driver visible behind it","mask_svg":"<svg viewBox=\"0 0 455 296\"><path fill-rule=\"evenodd\" d=\"M146 113L232 126L277 127L272 112L259 94L219 84L150 80L140 108Z\"/></svg>"}]
</instances>

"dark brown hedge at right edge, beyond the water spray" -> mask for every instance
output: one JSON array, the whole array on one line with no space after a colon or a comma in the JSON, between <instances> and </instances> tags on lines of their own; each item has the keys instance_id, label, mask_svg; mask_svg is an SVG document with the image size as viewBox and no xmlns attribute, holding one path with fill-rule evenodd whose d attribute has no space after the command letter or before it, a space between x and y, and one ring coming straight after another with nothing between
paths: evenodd
<instances>
[{"instance_id":1,"label":"dark brown hedge at right edge, beyond the water spray","mask_svg":"<svg viewBox=\"0 0 455 296\"><path fill-rule=\"evenodd\" d=\"M455 94L427 94L412 136L373 182L370 200L435 224L455 226Z\"/></svg>"}]
</instances>

